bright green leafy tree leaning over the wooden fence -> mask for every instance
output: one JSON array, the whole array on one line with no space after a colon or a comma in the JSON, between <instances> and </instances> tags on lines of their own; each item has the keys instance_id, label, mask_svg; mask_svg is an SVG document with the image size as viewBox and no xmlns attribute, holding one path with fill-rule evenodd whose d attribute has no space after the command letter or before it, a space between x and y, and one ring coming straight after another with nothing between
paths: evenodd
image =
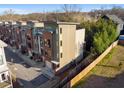
<instances>
[{"instance_id":1,"label":"bright green leafy tree leaning over the wooden fence","mask_svg":"<svg viewBox=\"0 0 124 93\"><path fill-rule=\"evenodd\" d=\"M109 45L116 40L118 34L116 25L110 20L100 19L97 22L96 33L93 37L93 49L97 54L101 54Z\"/></svg>"}]
</instances>

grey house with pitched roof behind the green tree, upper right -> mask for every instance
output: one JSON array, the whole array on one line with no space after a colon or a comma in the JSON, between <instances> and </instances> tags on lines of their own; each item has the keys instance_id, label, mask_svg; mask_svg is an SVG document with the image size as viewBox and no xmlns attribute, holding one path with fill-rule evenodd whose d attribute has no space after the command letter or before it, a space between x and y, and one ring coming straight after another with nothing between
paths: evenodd
<instances>
[{"instance_id":1,"label":"grey house with pitched roof behind the green tree, upper right","mask_svg":"<svg viewBox=\"0 0 124 93\"><path fill-rule=\"evenodd\" d=\"M124 22L122 19L118 18L116 15L106 14L106 15L102 16L102 18L104 18L106 20L112 20L117 25L118 34L120 34L120 32L123 30Z\"/></svg>"}]
</instances>

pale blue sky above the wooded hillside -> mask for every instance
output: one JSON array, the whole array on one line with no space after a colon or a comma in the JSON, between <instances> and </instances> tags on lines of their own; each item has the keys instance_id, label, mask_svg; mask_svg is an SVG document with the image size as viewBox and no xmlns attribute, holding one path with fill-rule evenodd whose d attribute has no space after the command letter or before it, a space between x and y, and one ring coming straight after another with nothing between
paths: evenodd
<instances>
[{"instance_id":1,"label":"pale blue sky above the wooded hillside","mask_svg":"<svg viewBox=\"0 0 124 93\"><path fill-rule=\"evenodd\" d=\"M63 4L0 4L0 14L4 11L12 9L15 14L29 14L41 12L53 12L56 10L62 11ZM82 12L88 12L93 9L111 9L113 6L120 6L124 8L124 4L77 4L77 7Z\"/></svg>"}]
</instances>

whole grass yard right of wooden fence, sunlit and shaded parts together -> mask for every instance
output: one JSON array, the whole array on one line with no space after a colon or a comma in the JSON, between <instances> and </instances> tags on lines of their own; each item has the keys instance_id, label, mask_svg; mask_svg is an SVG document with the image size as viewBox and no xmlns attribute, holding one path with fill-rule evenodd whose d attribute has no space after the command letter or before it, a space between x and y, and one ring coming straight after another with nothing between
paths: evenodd
<instances>
[{"instance_id":1,"label":"whole grass yard right of wooden fence, sunlit and shaded parts together","mask_svg":"<svg viewBox=\"0 0 124 93\"><path fill-rule=\"evenodd\" d=\"M124 87L124 46L116 46L73 87Z\"/></svg>"}]
</instances>

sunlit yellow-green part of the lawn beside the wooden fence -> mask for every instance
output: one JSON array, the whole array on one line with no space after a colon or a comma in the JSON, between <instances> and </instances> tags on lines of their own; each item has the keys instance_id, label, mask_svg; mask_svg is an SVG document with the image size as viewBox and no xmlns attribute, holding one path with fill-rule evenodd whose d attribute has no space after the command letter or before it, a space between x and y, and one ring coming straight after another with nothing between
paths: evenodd
<instances>
[{"instance_id":1,"label":"sunlit yellow-green part of the lawn beside the wooden fence","mask_svg":"<svg viewBox=\"0 0 124 93\"><path fill-rule=\"evenodd\" d=\"M91 75L114 78L124 71L124 47L116 46L84 78L73 87L83 87Z\"/></svg>"}]
</instances>

